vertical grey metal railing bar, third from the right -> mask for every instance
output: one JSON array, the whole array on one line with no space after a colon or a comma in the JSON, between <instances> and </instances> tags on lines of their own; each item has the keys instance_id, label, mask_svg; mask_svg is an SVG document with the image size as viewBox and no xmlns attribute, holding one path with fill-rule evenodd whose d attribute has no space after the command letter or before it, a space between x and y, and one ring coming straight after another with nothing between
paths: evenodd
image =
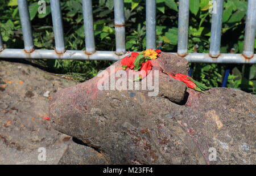
<instances>
[{"instance_id":1,"label":"vertical grey metal railing bar, third from the right","mask_svg":"<svg viewBox=\"0 0 256 176\"><path fill-rule=\"evenodd\" d=\"M177 54L184 56L188 52L189 0L179 1Z\"/></svg>"}]
</instances>

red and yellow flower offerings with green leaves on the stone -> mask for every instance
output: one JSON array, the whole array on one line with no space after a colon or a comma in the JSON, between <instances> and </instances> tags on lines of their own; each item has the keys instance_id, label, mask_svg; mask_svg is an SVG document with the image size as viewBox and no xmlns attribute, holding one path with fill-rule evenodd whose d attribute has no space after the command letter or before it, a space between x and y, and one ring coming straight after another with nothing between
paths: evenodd
<instances>
[{"instance_id":1,"label":"red and yellow flower offerings with green leaves on the stone","mask_svg":"<svg viewBox=\"0 0 256 176\"><path fill-rule=\"evenodd\" d=\"M147 76L148 72L152 70L152 63L150 60L160 57L159 53L161 53L161 50L153 49L147 49L141 53L133 52L130 56L126 56L121 60L122 68L123 70L130 68L131 70L139 71L139 78L136 78L134 81L142 80ZM199 83L196 80L193 80L188 75L180 73L177 74L176 72L168 73L166 71L163 71L163 73L169 75L171 78L183 81L183 83L185 83L188 88L194 89L195 91L203 92L209 89L209 87Z\"/></svg>"}]
</instances>

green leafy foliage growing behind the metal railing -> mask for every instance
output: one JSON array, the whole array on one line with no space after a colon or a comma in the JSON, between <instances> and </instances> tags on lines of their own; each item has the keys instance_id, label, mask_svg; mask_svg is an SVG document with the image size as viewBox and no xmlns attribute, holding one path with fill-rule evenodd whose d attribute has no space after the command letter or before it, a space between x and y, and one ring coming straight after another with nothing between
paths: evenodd
<instances>
[{"instance_id":1,"label":"green leafy foliage growing behind the metal railing","mask_svg":"<svg viewBox=\"0 0 256 176\"><path fill-rule=\"evenodd\" d=\"M6 48L23 48L22 32L19 21L17 0L1 0L0 28ZM54 49L54 35L51 22L49 0L46 14L38 14L38 1L29 3L30 18L37 49ZM97 50L115 50L114 1L98 0L93 2L94 36ZM126 18L126 49L143 51L146 49L146 5L145 0L124 0ZM61 1L65 46L68 50L84 50L84 21L81 0ZM156 1L156 37L163 41L162 50L177 50L177 0ZM189 10L189 52L209 52L210 22L209 0L191 0ZM245 14L247 1L225 0L222 18L221 53L235 53L243 50L245 33ZM256 40L255 40L256 42ZM198 48L195 50L195 45ZM255 45L256 47L256 45ZM108 61L61 61L43 60L41 64L60 74L68 74L77 81L92 78L98 71L113 62ZM228 77L228 87L255 92L255 65L192 64L193 79L208 87L220 87L226 68L232 72Z\"/></svg>"}]
</instances>

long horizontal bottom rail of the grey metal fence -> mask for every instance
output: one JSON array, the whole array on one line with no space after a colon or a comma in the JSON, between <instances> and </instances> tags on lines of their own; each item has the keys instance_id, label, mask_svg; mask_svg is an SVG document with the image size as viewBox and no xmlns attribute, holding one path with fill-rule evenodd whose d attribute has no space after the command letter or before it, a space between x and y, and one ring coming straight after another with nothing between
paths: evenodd
<instances>
[{"instance_id":1,"label":"long horizontal bottom rail of the grey metal fence","mask_svg":"<svg viewBox=\"0 0 256 176\"><path fill-rule=\"evenodd\" d=\"M177 53L171 53L177 55ZM106 60L118 61L127 54L116 55L115 51L96 51L86 54L82 50L67 50L64 54L56 54L55 50L35 50L28 54L23 49L5 49L0 52L0 58L31 58L31 59L77 59L77 60ZM256 55L251 59L245 59L242 54L224 53L217 59L209 56L209 53L189 53L185 57L194 63L256 63Z\"/></svg>"}]
</instances>

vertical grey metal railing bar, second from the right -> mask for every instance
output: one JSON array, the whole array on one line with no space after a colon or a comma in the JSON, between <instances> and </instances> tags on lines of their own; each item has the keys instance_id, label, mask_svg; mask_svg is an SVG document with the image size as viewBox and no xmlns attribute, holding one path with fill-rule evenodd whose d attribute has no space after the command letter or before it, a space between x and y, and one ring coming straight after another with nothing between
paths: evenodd
<instances>
[{"instance_id":1,"label":"vertical grey metal railing bar, second from the right","mask_svg":"<svg viewBox=\"0 0 256 176\"><path fill-rule=\"evenodd\" d=\"M212 25L210 28L210 57L220 55L222 12L224 0L213 0ZM216 6L214 5L216 4ZM214 9L216 8L216 9Z\"/></svg>"}]
</instances>

